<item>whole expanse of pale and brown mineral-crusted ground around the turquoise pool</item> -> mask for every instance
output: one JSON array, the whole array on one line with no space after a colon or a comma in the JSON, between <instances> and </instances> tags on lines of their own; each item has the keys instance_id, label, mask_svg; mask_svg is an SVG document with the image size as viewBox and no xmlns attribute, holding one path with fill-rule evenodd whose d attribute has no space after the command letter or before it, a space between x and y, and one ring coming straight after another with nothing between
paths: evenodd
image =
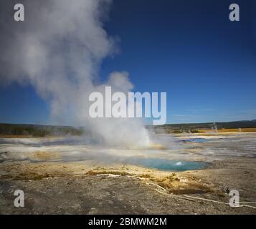
<instances>
[{"instance_id":1,"label":"whole expanse of pale and brown mineral-crusted ground around the turquoise pool","mask_svg":"<svg viewBox=\"0 0 256 229\"><path fill-rule=\"evenodd\" d=\"M98 153L83 145L53 145L52 139L48 145L44 139L2 140L0 213L256 214L255 134L159 136L171 147ZM163 172L115 160L123 155L208 166ZM15 190L24 191L24 208L14 206ZM239 191L240 207L229 206L231 190Z\"/></svg>"}]
</instances>

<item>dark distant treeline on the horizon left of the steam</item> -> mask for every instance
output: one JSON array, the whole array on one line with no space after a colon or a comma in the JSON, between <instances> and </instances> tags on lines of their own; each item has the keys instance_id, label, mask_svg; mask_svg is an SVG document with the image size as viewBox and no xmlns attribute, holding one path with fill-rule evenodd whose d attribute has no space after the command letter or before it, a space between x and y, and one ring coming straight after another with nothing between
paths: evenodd
<instances>
[{"instance_id":1,"label":"dark distant treeline on the horizon left of the steam","mask_svg":"<svg viewBox=\"0 0 256 229\"><path fill-rule=\"evenodd\" d=\"M29 135L33 137L82 135L82 128L47 126L47 125L23 125L0 124L0 135Z\"/></svg>"}]
</instances>

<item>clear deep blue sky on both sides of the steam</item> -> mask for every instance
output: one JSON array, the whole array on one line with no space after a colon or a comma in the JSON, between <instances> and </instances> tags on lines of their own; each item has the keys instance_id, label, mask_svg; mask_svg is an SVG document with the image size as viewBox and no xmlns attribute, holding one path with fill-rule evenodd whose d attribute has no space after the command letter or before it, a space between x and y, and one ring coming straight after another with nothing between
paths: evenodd
<instances>
[{"instance_id":1,"label":"clear deep blue sky on both sides of the steam","mask_svg":"<svg viewBox=\"0 0 256 229\"><path fill-rule=\"evenodd\" d=\"M127 71L136 92L167 92L167 122L256 119L256 6L234 1L122 0L105 29L119 52L101 79ZM0 87L0 122L49 123L49 105L29 85ZM17 110L19 112L17 112Z\"/></svg>"}]
</instances>

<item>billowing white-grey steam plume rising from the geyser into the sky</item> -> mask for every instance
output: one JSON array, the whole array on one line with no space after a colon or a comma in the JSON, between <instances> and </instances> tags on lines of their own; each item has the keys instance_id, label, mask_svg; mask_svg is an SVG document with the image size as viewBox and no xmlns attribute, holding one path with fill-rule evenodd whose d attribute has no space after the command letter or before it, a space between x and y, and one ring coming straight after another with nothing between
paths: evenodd
<instances>
[{"instance_id":1,"label":"billowing white-grey steam plume rising from the geyser into the sky","mask_svg":"<svg viewBox=\"0 0 256 229\"><path fill-rule=\"evenodd\" d=\"M16 1L0 1L0 82L32 84L51 104L53 117L63 123L82 125L109 145L144 147L148 134L136 119L90 119L91 92L113 92L133 88L126 72L113 72L105 84L99 82L100 62L115 52L103 29L110 0L20 1L25 21L14 21Z\"/></svg>"}]
</instances>

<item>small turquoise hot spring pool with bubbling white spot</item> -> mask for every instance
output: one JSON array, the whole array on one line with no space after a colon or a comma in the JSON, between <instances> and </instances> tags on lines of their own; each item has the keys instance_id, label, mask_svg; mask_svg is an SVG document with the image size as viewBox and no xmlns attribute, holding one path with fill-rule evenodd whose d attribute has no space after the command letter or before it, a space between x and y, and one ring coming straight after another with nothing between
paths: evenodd
<instances>
[{"instance_id":1,"label":"small turquoise hot spring pool with bubbling white spot","mask_svg":"<svg viewBox=\"0 0 256 229\"><path fill-rule=\"evenodd\" d=\"M133 158L131 163L134 165L142 165L144 167L150 167L158 170L165 171L186 171L186 170L200 170L207 167L207 163L204 162L186 162L178 160L164 160L158 158Z\"/></svg>"}]
</instances>

